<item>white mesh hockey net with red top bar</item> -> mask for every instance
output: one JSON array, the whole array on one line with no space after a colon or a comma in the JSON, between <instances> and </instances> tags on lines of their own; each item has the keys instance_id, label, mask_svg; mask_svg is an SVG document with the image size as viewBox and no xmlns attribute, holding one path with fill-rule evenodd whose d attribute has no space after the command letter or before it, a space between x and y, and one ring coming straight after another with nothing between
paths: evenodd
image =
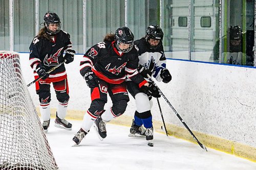
<instances>
[{"instance_id":1,"label":"white mesh hockey net with red top bar","mask_svg":"<svg viewBox=\"0 0 256 170\"><path fill-rule=\"evenodd\" d=\"M27 85L19 54L0 51L0 169L58 169Z\"/></svg>"}]
</instances>

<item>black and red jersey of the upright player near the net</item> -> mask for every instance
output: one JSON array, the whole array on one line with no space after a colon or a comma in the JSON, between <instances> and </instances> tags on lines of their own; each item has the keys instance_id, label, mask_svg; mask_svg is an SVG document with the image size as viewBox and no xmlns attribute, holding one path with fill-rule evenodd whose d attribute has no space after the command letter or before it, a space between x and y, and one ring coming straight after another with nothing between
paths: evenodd
<instances>
[{"instance_id":1,"label":"black and red jersey of the upright player near the net","mask_svg":"<svg viewBox=\"0 0 256 170\"><path fill-rule=\"evenodd\" d=\"M57 33L50 41L46 38L35 37L30 44L30 66L36 73L37 64L41 63L46 68L46 71L64 61L63 53L72 48L70 35L62 30ZM67 77L65 65L62 64L49 75L49 81L55 82L63 80Z\"/></svg>"}]
</instances>

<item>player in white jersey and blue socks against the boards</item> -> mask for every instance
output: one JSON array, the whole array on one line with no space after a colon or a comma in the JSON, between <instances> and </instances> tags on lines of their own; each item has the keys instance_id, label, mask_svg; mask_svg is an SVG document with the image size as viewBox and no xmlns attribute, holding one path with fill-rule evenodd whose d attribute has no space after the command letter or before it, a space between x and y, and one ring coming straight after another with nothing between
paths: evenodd
<instances>
[{"instance_id":1,"label":"player in white jersey and blue socks against the boards","mask_svg":"<svg viewBox=\"0 0 256 170\"><path fill-rule=\"evenodd\" d=\"M144 78L147 78L148 74L159 82L168 83L172 80L172 76L166 68L166 58L164 56L162 40L162 29L159 26L148 26L146 36L135 41L135 44L139 48L138 71ZM152 97L149 93L142 93L138 85L134 82L127 81L126 84L128 91L133 95L136 101L136 111L130 129L130 136L134 136L135 134L146 135L146 140L152 140ZM144 125L146 129L144 129L142 125Z\"/></svg>"}]
</instances>

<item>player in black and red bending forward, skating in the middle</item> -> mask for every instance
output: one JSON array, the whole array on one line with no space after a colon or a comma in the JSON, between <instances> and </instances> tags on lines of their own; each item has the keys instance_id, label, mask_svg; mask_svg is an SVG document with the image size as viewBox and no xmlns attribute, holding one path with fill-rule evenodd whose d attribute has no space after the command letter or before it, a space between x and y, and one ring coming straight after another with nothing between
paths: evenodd
<instances>
[{"instance_id":1,"label":"player in black and red bending forward, skating in the middle","mask_svg":"<svg viewBox=\"0 0 256 170\"><path fill-rule=\"evenodd\" d=\"M92 46L80 62L80 73L91 88L91 106L83 117L81 129L73 140L79 144L95 122L102 140L106 137L105 123L122 115L129 96L125 79L130 78L142 91L159 94L137 71L138 50L134 35L127 27L118 28L115 34L107 34L103 42ZM113 106L103 110L109 93Z\"/></svg>"}]
</instances>

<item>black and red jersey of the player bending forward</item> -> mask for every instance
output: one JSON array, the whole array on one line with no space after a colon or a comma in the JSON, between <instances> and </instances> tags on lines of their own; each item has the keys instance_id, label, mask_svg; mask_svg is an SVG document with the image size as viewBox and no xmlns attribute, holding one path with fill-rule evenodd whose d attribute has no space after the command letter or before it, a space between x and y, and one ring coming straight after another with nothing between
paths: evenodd
<instances>
[{"instance_id":1,"label":"black and red jersey of the player bending forward","mask_svg":"<svg viewBox=\"0 0 256 170\"><path fill-rule=\"evenodd\" d=\"M92 70L95 75L111 84L120 84L126 78L142 86L146 83L138 74L138 48L136 45L128 53L121 53L115 47L115 41L102 41L92 46L80 62L80 74Z\"/></svg>"}]
</instances>

